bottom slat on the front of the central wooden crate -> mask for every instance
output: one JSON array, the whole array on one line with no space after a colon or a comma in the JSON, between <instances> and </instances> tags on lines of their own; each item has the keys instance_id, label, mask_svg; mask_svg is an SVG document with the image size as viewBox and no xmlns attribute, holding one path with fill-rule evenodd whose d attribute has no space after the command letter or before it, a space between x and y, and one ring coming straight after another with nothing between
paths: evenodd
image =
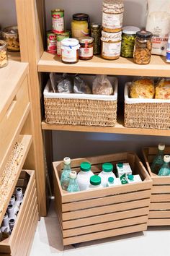
<instances>
[{"instance_id":1,"label":"bottom slat on the front of the central wooden crate","mask_svg":"<svg viewBox=\"0 0 170 256\"><path fill-rule=\"evenodd\" d=\"M130 234L130 233L134 233L134 232L144 231L146 229L147 229L147 225L146 225L146 223L144 223L144 224L139 224L139 225L135 225L135 226L128 226L128 227L121 228L121 229L112 229L112 230L107 230L107 231L102 231L102 232L97 232L97 233L85 234L82 236L69 237L69 238L63 239L63 244L64 245L76 244L79 242L103 239L103 238L110 237L110 236L119 236L122 234Z\"/></svg>"}]
</instances>

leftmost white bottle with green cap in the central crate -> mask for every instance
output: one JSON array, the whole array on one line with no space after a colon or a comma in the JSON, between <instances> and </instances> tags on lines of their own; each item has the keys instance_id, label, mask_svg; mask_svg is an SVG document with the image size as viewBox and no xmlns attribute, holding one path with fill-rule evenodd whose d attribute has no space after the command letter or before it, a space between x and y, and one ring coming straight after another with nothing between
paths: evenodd
<instances>
[{"instance_id":1,"label":"leftmost white bottle with green cap in the central crate","mask_svg":"<svg viewBox=\"0 0 170 256\"><path fill-rule=\"evenodd\" d=\"M88 162L83 162L80 165L80 171L77 174L77 182L79 184L80 190L86 190L90 184L90 177L93 176L91 171L91 164Z\"/></svg>"}]
</instances>

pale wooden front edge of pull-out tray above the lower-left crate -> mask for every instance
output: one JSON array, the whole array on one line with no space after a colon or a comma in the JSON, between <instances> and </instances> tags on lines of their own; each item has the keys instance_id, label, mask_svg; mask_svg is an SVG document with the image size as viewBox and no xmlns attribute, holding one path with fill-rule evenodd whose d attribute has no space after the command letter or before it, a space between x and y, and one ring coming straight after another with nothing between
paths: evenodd
<instances>
[{"instance_id":1,"label":"pale wooden front edge of pull-out tray above the lower-left crate","mask_svg":"<svg viewBox=\"0 0 170 256\"><path fill-rule=\"evenodd\" d=\"M8 204L9 204L9 200L12 197L12 193L14 191L14 187L17 184L17 180L19 178L19 174L21 173L22 167L24 165L24 161L27 158L27 153L30 150L30 145L32 144L32 136L31 135L19 135L19 139L17 140L17 142L21 142L24 145L23 155L22 155L21 161L19 162L19 165L17 166L17 169L18 169L17 170L17 175L15 176L15 179L14 179L14 182L12 184L12 187L9 190L9 194L6 195L6 201L4 202L3 210L0 213L0 223L3 220L3 218L4 218L4 214L6 213L6 208L7 208Z\"/></svg>"}]
</instances>

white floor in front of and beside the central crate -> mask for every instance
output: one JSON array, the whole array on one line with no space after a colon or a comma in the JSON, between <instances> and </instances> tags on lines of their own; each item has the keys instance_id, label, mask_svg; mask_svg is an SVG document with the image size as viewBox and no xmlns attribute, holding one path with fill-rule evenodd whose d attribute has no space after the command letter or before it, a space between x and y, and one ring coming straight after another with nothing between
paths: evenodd
<instances>
[{"instance_id":1,"label":"white floor in front of and beside the central crate","mask_svg":"<svg viewBox=\"0 0 170 256\"><path fill-rule=\"evenodd\" d=\"M48 217L41 218L30 256L169 256L170 227L84 242L63 248L53 201Z\"/></svg>"}]
</instances>

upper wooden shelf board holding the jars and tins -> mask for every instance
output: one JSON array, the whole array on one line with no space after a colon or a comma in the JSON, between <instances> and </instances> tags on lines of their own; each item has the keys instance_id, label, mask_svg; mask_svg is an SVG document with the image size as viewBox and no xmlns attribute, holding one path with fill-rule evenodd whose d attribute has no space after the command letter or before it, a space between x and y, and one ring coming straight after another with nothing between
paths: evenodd
<instances>
[{"instance_id":1,"label":"upper wooden shelf board holding the jars and tins","mask_svg":"<svg viewBox=\"0 0 170 256\"><path fill-rule=\"evenodd\" d=\"M79 61L76 64L63 64L61 59L44 52L37 64L39 72L68 72L79 74L114 74L151 77L169 77L170 65L163 56L151 56L151 63L138 65L133 59L120 57L115 61L107 61L94 56L90 61Z\"/></svg>"}]
</instances>

